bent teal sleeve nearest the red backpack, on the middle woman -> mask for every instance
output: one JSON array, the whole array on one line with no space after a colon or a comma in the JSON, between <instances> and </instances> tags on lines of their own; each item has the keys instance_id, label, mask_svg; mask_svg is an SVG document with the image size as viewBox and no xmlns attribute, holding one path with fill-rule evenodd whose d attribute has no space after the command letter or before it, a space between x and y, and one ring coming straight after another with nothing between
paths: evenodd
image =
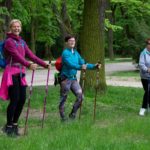
<instances>
[{"instance_id":1,"label":"bent teal sleeve nearest the red backpack, on the middle woman","mask_svg":"<svg viewBox=\"0 0 150 150\"><path fill-rule=\"evenodd\" d=\"M80 64L72 62L70 54L67 51L63 52L63 54L62 54L62 60L63 60L63 63L66 66L68 66L68 68L70 68L70 69L76 69L76 70L80 70L81 69L81 65Z\"/></svg>"}]
</instances>

